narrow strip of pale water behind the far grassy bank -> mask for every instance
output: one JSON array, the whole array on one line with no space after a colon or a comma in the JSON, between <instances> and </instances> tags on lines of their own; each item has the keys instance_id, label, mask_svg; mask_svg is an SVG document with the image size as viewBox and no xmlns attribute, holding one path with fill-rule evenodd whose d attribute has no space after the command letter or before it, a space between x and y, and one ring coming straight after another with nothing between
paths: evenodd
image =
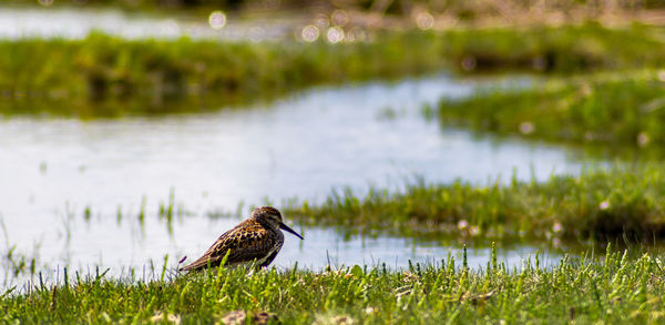
<instances>
[{"instance_id":1,"label":"narrow strip of pale water behind the far grassy bank","mask_svg":"<svg viewBox=\"0 0 665 325\"><path fill-rule=\"evenodd\" d=\"M188 37L228 41L276 41L293 37L305 20L297 17L250 20L228 17L222 29L207 17L162 17L126 13L115 9L0 7L0 39L27 37L82 39L100 31L125 39Z\"/></svg>"}]
</instances>

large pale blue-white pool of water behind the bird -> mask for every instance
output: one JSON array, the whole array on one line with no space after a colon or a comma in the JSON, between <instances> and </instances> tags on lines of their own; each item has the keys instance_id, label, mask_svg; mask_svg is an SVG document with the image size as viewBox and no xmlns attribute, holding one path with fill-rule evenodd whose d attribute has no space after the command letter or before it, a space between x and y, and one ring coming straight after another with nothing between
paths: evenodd
<instances>
[{"instance_id":1,"label":"large pale blue-white pool of water behind the bird","mask_svg":"<svg viewBox=\"0 0 665 325\"><path fill-rule=\"evenodd\" d=\"M237 219L238 203L277 207L288 199L321 201L334 187L364 193L370 185L399 191L415 175L428 182L456 179L485 184L576 173L583 162L559 146L519 140L474 138L428 122L422 104L469 95L497 80L462 81L448 75L397 83L323 88L247 110L161 119L0 121L0 250L37 255L40 265L115 272L195 258ZM505 81L503 81L507 83ZM518 83L524 80L515 81ZM172 232L157 217L160 204L182 212ZM145 200L145 220L137 215ZM243 214L248 207L242 209ZM90 207L90 221L84 211ZM122 217L117 219L117 214ZM289 223L288 215L286 222ZM409 238L354 237L329 228L300 228L305 241L286 234L279 267L320 268L386 262L403 266L446 257L450 247ZM37 247L37 248L35 248ZM452 248L459 255L459 248ZM501 252L510 263L535 247ZM484 265L473 251L469 264ZM191 261L191 260L190 260Z\"/></svg>"}]
</instances>

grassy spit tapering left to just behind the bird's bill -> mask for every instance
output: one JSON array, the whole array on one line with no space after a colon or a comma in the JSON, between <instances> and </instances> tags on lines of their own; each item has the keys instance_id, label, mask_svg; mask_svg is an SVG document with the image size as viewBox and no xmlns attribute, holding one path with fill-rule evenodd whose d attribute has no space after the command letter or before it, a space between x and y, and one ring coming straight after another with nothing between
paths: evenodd
<instances>
[{"instance_id":1,"label":"grassy spit tapering left to just behind the bird's bill","mask_svg":"<svg viewBox=\"0 0 665 325\"><path fill-rule=\"evenodd\" d=\"M661 165L594 169L545 182L474 186L416 184L405 193L346 192L320 205L285 211L306 224L344 232L389 232L479 241L652 241L665 235L665 177Z\"/></svg>"}]
</instances>

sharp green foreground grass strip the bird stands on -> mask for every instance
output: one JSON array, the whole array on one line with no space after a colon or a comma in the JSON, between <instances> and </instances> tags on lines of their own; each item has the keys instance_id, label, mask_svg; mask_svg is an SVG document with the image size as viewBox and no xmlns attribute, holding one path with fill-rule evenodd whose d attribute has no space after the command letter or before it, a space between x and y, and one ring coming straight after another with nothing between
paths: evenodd
<instances>
[{"instance_id":1,"label":"sharp green foreground grass strip the bird stands on","mask_svg":"<svg viewBox=\"0 0 665 325\"><path fill-rule=\"evenodd\" d=\"M663 261L607 252L509 270L494 257L482 271L446 258L405 271L354 266L311 272L219 270L173 280L39 282L0 295L12 323L222 322L232 311L266 313L284 324L662 323ZM460 265L461 264L461 265ZM259 316L260 317L260 316Z\"/></svg>"}]
</instances>

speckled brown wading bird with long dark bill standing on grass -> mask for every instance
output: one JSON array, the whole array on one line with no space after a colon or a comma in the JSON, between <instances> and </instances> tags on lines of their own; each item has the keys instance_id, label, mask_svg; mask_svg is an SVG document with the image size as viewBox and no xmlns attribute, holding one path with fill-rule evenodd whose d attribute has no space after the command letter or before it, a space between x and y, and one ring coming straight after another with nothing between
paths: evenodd
<instances>
[{"instance_id":1,"label":"speckled brown wading bird with long dark bill standing on grass","mask_svg":"<svg viewBox=\"0 0 665 325\"><path fill-rule=\"evenodd\" d=\"M215 243L192 264L181 271L200 271L219 266L228 254L226 266L268 266L284 244L287 231L300 240L303 236L282 222L282 213L273 206L260 206L252 211L249 219L222 234Z\"/></svg>"}]
</instances>

